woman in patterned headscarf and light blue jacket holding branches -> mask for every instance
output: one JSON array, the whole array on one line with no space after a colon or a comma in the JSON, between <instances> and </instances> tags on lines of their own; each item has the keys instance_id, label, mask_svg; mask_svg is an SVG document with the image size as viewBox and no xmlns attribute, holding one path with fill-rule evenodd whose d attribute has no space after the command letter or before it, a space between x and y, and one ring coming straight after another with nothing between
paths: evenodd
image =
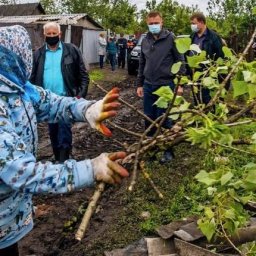
<instances>
[{"instance_id":1,"label":"woman in patterned headscarf and light blue jacket holding branches","mask_svg":"<svg viewBox=\"0 0 256 256\"><path fill-rule=\"evenodd\" d=\"M123 152L103 153L63 164L37 162L37 122L88 121L105 135L102 121L116 115L118 89L103 100L57 96L28 82L31 42L21 26L0 28L0 255L18 255L17 242L33 227L32 195L65 193L95 180L120 182L128 172L115 160Z\"/></svg>"}]
</instances>

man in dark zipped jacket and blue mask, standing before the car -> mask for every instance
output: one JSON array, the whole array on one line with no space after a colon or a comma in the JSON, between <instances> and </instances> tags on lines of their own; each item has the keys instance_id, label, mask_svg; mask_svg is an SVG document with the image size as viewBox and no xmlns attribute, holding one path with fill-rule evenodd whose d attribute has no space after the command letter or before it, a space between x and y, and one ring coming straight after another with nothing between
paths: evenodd
<instances>
[{"instance_id":1,"label":"man in dark zipped jacket and blue mask, standing before the car","mask_svg":"<svg viewBox=\"0 0 256 256\"><path fill-rule=\"evenodd\" d=\"M137 79L137 95L143 97L144 113L152 120L163 115L166 109L158 108L154 103L158 96L153 94L161 86L169 85L174 89L174 75L171 67L175 62L183 61L174 43L174 35L163 29L163 19L159 12L152 11L147 16L149 32L142 41L141 55ZM145 128L150 123L145 121ZM171 128L171 120L168 119L163 127ZM156 129L152 128L147 134L153 136ZM167 149L161 159L162 163L172 160L173 152Z\"/></svg>"}]
</instances>

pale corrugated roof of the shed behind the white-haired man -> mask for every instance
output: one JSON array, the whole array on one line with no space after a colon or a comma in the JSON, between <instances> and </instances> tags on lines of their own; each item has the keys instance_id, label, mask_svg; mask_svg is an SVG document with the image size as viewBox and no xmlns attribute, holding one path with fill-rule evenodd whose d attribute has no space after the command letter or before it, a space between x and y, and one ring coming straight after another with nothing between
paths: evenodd
<instances>
[{"instance_id":1,"label":"pale corrugated roof of the shed behind the white-haired man","mask_svg":"<svg viewBox=\"0 0 256 256\"><path fill-rule=\"evenodd\" d=\"M93 23L96 27L102 28L100 24L94 21L85 13L79 14L51 14L51 15L29 15L29 16L3 16L0 17L0 23L46 23L49 21L55 21L60 25L72 25L77 24L82 18L86 18Z\"/></svg>"}]
</instances>

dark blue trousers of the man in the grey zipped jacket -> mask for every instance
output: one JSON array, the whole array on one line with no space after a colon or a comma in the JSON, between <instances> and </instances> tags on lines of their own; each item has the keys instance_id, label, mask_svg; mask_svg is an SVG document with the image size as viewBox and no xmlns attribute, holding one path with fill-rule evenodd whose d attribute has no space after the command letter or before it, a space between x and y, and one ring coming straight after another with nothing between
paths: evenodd
<instances>
[{"instance_id":1,"label":"dark blue trousers of the man in the grey zipped jacket","mask_svg":"<svg viewBox=\"0 0 256 256\"><path fill-rule=\"evenodd\" d=\"M174 83L170 82L169 84L170 88L174 89ZM166 111L165 108L159 108L154 103L158 100L158 96L153 94L157 89L159 89L161 85L149 85L144 84L143 86L143 108L144 108L144 114L151 118L152 120L156 120L159 116L163 115ZM150 126L150 122L145 120L145 129L147 129ZM166 129L169 129L172 127L172 120L170 118L167 118L165 122L163 123L163 127ZM150 131L147 133L147 136L153 136L156 132L156 127L153 127L150 129Z\"/></svg>"}]
</instances>

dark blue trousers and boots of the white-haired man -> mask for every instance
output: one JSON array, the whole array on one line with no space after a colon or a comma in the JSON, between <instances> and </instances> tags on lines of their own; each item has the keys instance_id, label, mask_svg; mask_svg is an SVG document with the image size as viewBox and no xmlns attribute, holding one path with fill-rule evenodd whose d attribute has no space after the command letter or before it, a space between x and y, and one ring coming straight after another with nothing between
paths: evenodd
<instances>
[{"instance_id":1,"label":"dark blue trousers and boots of the white-haired man","mask_svg":"<svg viewBox=\"0 0 256 256\"><path fill-rule=\"evenodd\" d=\"M55 159L64 162L69 159L72 149L72 125L64 122L50 123L48 128Z\"/></svg>"}]
</instances>

